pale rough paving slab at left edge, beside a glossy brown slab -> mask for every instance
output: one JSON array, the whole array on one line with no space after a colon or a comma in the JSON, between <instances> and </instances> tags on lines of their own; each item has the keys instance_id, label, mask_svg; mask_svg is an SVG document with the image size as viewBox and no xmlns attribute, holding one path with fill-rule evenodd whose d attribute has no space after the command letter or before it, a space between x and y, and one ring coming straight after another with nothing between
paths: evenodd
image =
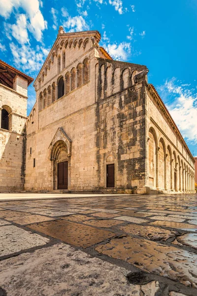
<instances>
[{"instance_id":1,"label":"pale rough paving slab at left edge, beside a glossy brown slab","mask_svg":"<svg viewBox=\"0 0 197 296\"><path fill-rule=\"evenodd\" d=\"M14 225L0 227L0 257L45 245L49 239Z\"/></svg>"}]
</instances>

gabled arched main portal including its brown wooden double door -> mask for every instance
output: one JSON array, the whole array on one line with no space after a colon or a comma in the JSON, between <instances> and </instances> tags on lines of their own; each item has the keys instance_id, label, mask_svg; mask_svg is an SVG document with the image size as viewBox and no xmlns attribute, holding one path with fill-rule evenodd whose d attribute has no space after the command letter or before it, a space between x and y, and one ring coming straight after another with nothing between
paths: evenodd
<instances>
[{"instance_id":1,"label":"gabled arched main portal including its brown wooden double door","mask_svg":"<svg viewBox=\"0 0 197 296\"><path fill-rule=\"evenodd\" d=\"M53 189L70 188L71 140L62 128L59 128L49 146L52 161Z\"/></svg>"}]
</instances>

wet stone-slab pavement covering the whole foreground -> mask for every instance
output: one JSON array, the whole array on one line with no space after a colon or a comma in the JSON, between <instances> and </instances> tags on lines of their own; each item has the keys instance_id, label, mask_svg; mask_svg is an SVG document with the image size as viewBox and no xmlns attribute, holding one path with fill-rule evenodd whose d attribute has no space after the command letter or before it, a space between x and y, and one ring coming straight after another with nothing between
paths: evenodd
<instances>
[{"instance_id":1,"label":"wet stone-slab pavement covering the whole foreground","mask_svg":"<svg viewBox=\"0 0 197 296\"><path fill-rule=\"evenodd\" d=\"M0 296L197 295L197 195L24 196L0 201Z\"/></svg>"}]
</instances>

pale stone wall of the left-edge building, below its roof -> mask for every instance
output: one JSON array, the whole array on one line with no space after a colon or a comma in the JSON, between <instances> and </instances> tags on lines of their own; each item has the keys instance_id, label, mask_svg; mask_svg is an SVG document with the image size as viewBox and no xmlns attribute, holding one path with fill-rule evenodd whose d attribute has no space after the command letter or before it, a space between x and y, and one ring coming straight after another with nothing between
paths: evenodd
<instances>
[{"instance_id":1,"label":"pale stone wall of the left-edge building, below its roof","mask_svg":"<svg viewBox=\"0 0 197 296\"><path fill-rule=\"evenodd\" d=\"M24 189L27 97L19 92L0 84L0 122L1 110L9 113L9 130L0 128L0 192Z\"/></svg>"}]
</instances>

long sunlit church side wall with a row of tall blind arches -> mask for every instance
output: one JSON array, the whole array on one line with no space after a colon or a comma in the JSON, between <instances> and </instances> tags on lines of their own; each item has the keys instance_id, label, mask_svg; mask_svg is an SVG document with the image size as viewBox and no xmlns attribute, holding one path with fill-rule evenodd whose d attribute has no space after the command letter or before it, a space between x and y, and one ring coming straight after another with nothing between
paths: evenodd
<instances>
[{"instance_id":1,"label":"long sunlit church side wall with a row of tall blind arches","mask_svg":"<svg viewBox=\"0 0 197 296\"><path fill-rule=\"evenodd\" d=\"M147 192L194 192L193 156L152 85L147 85L146 114Z\"/></svg>"}]
</instances>

